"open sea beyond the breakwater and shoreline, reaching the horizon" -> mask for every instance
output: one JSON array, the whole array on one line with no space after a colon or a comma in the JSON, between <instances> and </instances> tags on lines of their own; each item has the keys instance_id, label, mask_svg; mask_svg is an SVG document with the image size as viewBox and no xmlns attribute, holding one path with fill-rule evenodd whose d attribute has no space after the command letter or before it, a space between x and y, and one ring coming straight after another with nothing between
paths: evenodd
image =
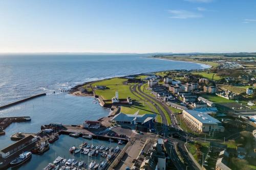
<instances>
[{"instance_id":1,"label":"open sea beyond the breakwater and shoreline, reaching the horizon","mask_svg":"<svg viewBox=\"0 0 256 170\"><path fill-rule=\"evenodd\" d=\"M145 55L0 54L0 105L83 82L208 65L146 58Z\"/></svg>"}]
</instances>

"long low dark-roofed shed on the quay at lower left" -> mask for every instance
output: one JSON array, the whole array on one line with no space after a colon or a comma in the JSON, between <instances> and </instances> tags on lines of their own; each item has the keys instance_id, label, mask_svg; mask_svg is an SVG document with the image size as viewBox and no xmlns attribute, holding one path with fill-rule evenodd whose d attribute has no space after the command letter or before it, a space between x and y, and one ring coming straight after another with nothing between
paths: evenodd
<instances>
[{"instance_id":1,"label":"long low dark-roofed shed on the quay at lower left","mask_svg":"<svg viewBox=\"0 0 256 170\"><path fill-rule=\"evenodd\" d=\"M22 154L26 147L35 145L36 141L37 141L37 138L32 135L24 137L23 139L20 139L17 142L9 145L7 148L1 150L0 156L2 158L8 158L12 154L17 154L17 155Z\"/></svg>"}]
</instances>

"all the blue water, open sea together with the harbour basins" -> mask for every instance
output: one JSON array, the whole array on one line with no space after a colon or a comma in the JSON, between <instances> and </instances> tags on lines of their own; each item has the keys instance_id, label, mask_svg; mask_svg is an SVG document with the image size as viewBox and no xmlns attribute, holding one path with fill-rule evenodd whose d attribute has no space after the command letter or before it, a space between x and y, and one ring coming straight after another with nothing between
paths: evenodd
<instances>
[{"instance_id":1,"label":"all the blue water, open sea together with the harbour basins","mask_svg":"<svg viewBox=\"0 0 256 170\"><path fill-rule=\"evenodd\" d=\"M41 125L60 122L66 125L82 124L86 119L98 119L109 110L84 98L61 93L83 82L170 69L201 69L207 65L146 58L145 55L84 55L84 54L1 54L0 55L0 105L5 105L30 95L46 92L48 95L0 110L0 117L31 116L31 122L14 123L0 136L0 148L13 141L16 132L36 133ZM53 91L56 93L53 94ZM42 156L20 169L41 169L52 162L55 155L68 157L68 148L81 139L62 136ZM95 141L102 142L103 141ZM105 143L106 144L106 143ZM87 158L82 158L87 159Z\"/></svg>"}]
</instances>

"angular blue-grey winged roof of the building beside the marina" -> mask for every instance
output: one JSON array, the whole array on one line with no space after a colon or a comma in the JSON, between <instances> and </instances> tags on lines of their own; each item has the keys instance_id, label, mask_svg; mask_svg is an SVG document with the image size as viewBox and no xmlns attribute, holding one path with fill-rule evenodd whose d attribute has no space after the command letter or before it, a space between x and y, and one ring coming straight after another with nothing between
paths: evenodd
<instances>
[{"instance_id":1,"label":"angular blue-grey winged roof of the building beside the marina","mask_svg":"<svg viewBox=\"0 0 256 170\"><path fill-rule=\"evenodd\" d=\"M119 113L115 115L112 120L114 121L122 121L122 122L132 122L133 120L136 120L136 122L140 122L142 124L148 122L151 119L154 119L157 115L156 114L138 114L139 111L137 111L135 114L124 114Z\"/></svg>"}]
</instances>

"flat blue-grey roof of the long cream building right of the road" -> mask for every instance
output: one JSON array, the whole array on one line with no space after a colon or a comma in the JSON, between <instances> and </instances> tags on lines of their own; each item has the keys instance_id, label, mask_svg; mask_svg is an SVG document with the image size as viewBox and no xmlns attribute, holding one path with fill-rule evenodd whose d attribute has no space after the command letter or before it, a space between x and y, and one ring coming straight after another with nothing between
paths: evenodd
<instances>
[{"instance_id":1,"label":"flat blue-grey roof of the long cream building right of the road","mask_svg":"<svg viewBox=\"0 0 256 170\"><path fill-rule=\"evenodd\" d=\"M203 124L219 124L220 121L217 120L214 117L211 117L210 115L206 113L202 113L196 110L185 110L187 113L189 113L191 116L198 119Z\"/></svg>"}]
</instances>

